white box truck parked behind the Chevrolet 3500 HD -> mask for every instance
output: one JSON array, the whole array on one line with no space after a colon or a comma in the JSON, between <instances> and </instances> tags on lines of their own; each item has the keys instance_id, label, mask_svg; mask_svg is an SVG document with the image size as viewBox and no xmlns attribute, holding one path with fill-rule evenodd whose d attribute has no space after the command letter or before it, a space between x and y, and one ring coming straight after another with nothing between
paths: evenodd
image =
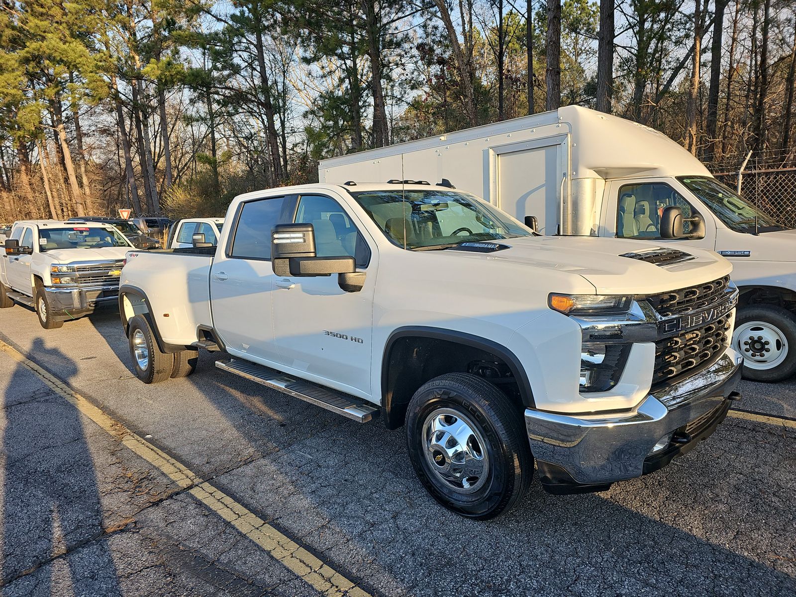
<instances>
[{"instance_id":1,"label":"white box truck parked behind the Chevrolet 3500 HD","mask_svg":"<svg viewBox=\"0 0 796 597\"><path fill-rule=\"evenodd\" d=\"M733 345L743 354L744 376L778 381L796 373L796 231L747 204L649 127L566 106L322 160L318 177L327 184L443 182L526 224L535 217L544 235L719 252L732 261L741 292Z\"/></svg>"}]
</instances>

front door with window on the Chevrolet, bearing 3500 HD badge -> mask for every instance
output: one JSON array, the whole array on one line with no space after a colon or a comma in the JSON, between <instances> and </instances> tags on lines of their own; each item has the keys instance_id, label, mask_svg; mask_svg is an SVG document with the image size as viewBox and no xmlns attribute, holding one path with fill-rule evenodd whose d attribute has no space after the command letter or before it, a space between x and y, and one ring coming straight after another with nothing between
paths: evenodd
<instances>
[{"instance_id":1,"label":"front door with window on the Chevrolet, bearing 3500 HD badge","mask_svg":"<svg viewBox=\"0 0 796 597\"><path fill-rule=\"evenodd\" d=\"M313 224L319 257L352 256L365 271L365 287L345 292L337 275L274 278L275 341L284 365L301 377L322 380L357 396L371 396L373 291L377 256L345 209L332 197L298 197L293 220Z\"/></svg>"}]
</instances>

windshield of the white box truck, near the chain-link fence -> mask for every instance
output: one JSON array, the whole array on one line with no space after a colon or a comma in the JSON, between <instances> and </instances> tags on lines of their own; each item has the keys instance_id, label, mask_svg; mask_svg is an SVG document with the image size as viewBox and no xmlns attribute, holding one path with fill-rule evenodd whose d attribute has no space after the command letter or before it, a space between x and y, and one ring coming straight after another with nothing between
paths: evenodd
<instances>
[{"instance_id":1,"label":"windshield of the white box truck, near the chain-link fence","mask_svg":"<svg viewBox=\"0 0 796 597\"><path fill-rule=\"evenodd\" d=\"M738 193L715 178L681 176L677 180L707 205L728 228L736 232L755 232L755 218L758 232L786 229L767 213L743 201Z\"/></svg>"}]
</instances>

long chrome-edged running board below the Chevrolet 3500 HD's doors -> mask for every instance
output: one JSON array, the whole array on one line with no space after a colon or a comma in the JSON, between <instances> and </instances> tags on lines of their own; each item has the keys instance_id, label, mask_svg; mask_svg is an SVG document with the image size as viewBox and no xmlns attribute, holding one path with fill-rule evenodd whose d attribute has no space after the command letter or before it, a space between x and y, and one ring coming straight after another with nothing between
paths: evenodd
<instances>
[{"instance_id":1,"label":"long chrome-edged running board below the Chevrolet 3500 HD's doors","mask_svg":"<svg viewBox=\"0 0 796 597\"><path fill-rule=\"evenodd\" d=\"M349 396L343 392L322 388L309 381L295 379L295 377L290 377L285 373L275 371L275 369L269 369L249 361L224 359L224 361L216 361L216 366L229 373L235 373L245 379L256 381L256 383L262 384L267 388L279 390L279 392L305 400L315 406L326 408L327 411L336 412L338 415L348 417L359 423L367 423L379 412L377 406L365 400Z\"/></svg>"}]
</instances>

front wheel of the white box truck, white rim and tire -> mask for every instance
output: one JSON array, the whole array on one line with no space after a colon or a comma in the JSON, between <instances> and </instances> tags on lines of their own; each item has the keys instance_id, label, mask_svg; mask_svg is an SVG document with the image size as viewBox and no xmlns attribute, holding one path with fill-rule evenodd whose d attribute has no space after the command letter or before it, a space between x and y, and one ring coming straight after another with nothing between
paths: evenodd
<instances>
[{"instance_id":1,"label":"front wheel of the white box truck, white rim and tire","mask_svg":"<svg viewBox=\"0 0 796 597\"><path fill-rule=\"evenodd\" d=\"M743 377L782 381L796 373L796 319L776 305L738 308L732 345L743 355Z\"/></svg>"}]
</instances>

